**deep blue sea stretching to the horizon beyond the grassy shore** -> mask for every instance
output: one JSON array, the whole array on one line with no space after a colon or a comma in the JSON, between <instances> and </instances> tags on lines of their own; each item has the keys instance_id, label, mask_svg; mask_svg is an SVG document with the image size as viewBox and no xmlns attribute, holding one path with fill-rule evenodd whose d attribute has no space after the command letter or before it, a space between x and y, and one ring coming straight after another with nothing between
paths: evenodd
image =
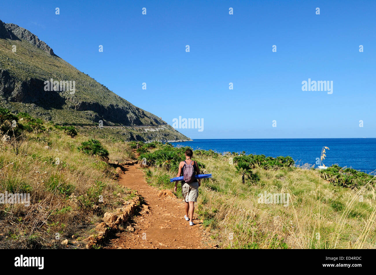
<instances>
[{"instance_id":1,"label":"deep blue sea stretching to the horizon beyond the grassy shore","mask_svg":"<svg viewBox=\"0 0 376 275\"><path fill-rule=\"evenodd\" d=\"M366 173L376 170L376 138L281 138L281 139L199 139L173 143L192 149L212 149L218 153L246 151L246 154L265 156L291 156L297 164L315 164L323 146L326 166L338 164Z\"/></svg>"}]
</instances>

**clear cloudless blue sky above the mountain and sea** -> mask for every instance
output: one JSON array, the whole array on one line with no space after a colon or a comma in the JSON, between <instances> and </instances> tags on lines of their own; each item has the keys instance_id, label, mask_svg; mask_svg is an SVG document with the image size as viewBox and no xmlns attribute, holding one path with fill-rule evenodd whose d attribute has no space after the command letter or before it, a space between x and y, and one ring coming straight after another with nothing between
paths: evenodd
<instances>
[{"instance_id":1,"label":"clear cloudless blue sky above the mountain and sea","mask_svg":"<svg viewBox=\"0 0 376 275\"><path fill-rule=\"evenodd\" d=\"M376 137L375 11L375 1L0 2L0 20L132 104L170 125L203 119L201 132L178 129L191 138ZM333 93L302 91L308 78L333 81Z\"/></svg>"}]
</instances>

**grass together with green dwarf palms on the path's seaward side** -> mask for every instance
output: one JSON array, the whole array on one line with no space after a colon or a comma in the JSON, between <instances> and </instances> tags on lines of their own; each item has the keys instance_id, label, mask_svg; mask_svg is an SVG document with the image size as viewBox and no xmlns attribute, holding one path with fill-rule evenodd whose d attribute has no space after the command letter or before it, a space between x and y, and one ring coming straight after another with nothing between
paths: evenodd
<instances>
[{"instance_id":1,"label":"grass together with green dwarf palms on the path's seaward side","mask_svg":"<svg viewBox=\"0 0 376 275\"><path fill-rule=\"evenodd\" d=\"M169 179L176 176L186 147L149 150L154 152L139 157L148 166L148 181L172 189ZM296 167L289 156L196 150L193 159L202 173L213 175L202 180L196 210L220 248L376 247L373 176L338 166L325 172ZM288 194L288 200L271 197L279 194ZM177 196L182 197L180 185Z\"/></svg>"}]
</instances>

